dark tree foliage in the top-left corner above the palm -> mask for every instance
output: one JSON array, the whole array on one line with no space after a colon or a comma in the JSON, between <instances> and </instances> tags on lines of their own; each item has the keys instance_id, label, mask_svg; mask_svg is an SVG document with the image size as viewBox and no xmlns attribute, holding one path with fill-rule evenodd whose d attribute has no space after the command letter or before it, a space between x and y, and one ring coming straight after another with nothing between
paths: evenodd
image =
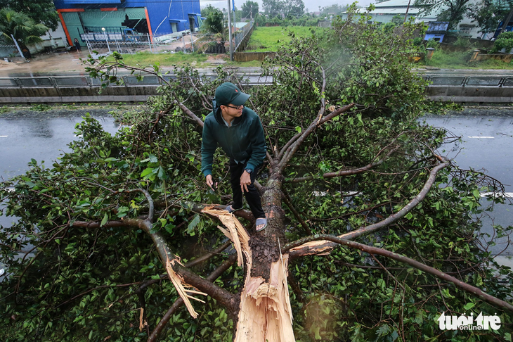
<instances>
[{"instance_id":1,"label":"dark tree foliage in the top-left corner above the palm","mask_svg":"<svg viewBox=\"0 0 513 342\"><path fill-rule=\"evenodd\" d=\"M25 13L34 23L40 23L51 30L56 30L60 21L53 0L0 0L0 8Z\"/></svg>"}]
</instances>

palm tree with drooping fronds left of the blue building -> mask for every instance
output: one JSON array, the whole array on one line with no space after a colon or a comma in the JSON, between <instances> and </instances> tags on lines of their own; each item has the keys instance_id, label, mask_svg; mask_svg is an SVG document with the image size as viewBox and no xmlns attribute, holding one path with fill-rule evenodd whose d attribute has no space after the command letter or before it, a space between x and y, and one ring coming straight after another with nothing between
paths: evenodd
<instances>
[{"instance_id":1,"label":"palm tree with drooping fronds left of the blue building","mask_svg":"<svg viewBox=\"0 0 513 342\"><path fill-rule=\"evenodd\" d=\"M41 36L48 32L48 27L43 24L34 23L28 15L22 12L13 11L11 8L0 10L0 32L7 42L13 42L13 38L25 51L28 44L42 42ZM12 37L11 37L12 35Z\"/></svg>"}]
</instances>

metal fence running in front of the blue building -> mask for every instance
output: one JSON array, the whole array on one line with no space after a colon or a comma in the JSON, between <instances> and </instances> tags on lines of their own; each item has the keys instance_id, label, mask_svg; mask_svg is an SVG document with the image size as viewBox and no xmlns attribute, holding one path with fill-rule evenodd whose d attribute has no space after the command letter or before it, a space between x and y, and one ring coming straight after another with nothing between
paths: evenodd
<instances>
[{"instance_id":1,"label":"metal fence running in front of the blue building","mask_svg":"<svg viewBox=\"0 0 513 342\"><path fill-rule=\"evenodd\" d=\"M253 22L247 23L234 34L235 50L247 34L252 32ZM105 28L105 27L103 27ZM102 28L102 30L103 30ZM119 53L174 53L174 52L201 52L201 53L228 53L230 46L228 40L221 34L191 32L163 32L160 34L138 33L122 27L106 27L102 32L91 32L80 35L82 42L86 43L89 53L97 51L98 54L108 54L112 51Z\"/></svg>"}]
</instances>

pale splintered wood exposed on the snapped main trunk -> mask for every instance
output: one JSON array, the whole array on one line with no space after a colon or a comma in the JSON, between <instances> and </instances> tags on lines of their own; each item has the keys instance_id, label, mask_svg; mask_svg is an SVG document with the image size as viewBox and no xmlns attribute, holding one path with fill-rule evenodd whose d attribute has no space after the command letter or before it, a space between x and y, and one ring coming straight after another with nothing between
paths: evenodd
<instances>
[{"instance_id":1,"label":"pale splintered wood exposed on the snapped main trunk","mask_svg":"<svg viewBox=\"0 0 513 342\"><path fill-rule=\"evenodd\" d=\"M233 241L238 265L242 265L242 253L246 256L245 286L240 296L240 311L235 342L294 342L292 308L287 285L288 255L271 264L269 281L251 277L252 251L249 235L242 224L226 210L205 209L204 213L219 217L228 229L221 232Z\"/></svg>"}]
</instances>

